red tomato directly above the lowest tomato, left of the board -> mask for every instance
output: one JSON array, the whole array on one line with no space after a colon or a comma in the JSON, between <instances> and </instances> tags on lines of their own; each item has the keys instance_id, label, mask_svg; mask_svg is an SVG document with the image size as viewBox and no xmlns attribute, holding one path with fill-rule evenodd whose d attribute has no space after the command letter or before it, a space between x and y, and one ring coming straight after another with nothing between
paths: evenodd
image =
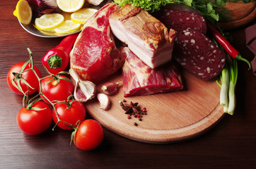
<instances>
[{"instance_id":1,"label":"red tomato directly above the lowest tomato, left of the board","mask_svg":"<svg viewBox=\"0 0 256 169\"><path fill-rule=\"evenodd\" d=\"M78 120L83 121L86 118L86 108L84 108L83 104L79 101L69 100L69 103L66 104L55 104L55 108L58 113L59 120L71 123L71 125L74 125L75 127ZM54 123L57 123L57 114L54 109L52 111L52 118ZM67 123L59 122L58 126L63 130L71 130L71 127L66 126L68 125Z\"/></svg>"}]
</instances>

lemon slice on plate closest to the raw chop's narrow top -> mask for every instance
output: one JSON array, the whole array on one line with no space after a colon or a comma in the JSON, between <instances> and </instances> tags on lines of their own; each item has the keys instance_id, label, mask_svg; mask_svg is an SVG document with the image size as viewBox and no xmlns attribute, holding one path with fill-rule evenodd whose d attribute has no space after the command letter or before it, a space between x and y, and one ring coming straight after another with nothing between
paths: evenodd
<instances>
[{"instance_id":1,"label":"lemon slice on plate closest to the raw chop's narrow top","mask_svg":"<svg viewBox=\"0 0 256 169\"><path fill-rule=\"evenodd\" d=\"M90 18L98 10L95 8L81 8L79 11L76 11L71 14L71 20L74 23L86 23L86 20Z\"/></svg>"}]
</instances>

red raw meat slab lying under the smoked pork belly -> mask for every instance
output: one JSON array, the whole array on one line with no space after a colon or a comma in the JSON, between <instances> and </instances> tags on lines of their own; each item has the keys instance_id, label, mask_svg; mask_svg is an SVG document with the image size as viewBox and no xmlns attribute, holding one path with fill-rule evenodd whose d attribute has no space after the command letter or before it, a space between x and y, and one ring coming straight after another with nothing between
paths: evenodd
<instances>
[{"instance_id":1,"label":"red raw meat slab lying under the smoked pork belly","mask_svg":"<svg viewBox=\"0 0 256 169\"><path fill-rule=\"evenodd\" d=\"M171 62L152 69L128 47L121 47L120 51L126 60L122 67L124 97L173 92L183 89L180 72Z\"/></svg>"}]
</instances>

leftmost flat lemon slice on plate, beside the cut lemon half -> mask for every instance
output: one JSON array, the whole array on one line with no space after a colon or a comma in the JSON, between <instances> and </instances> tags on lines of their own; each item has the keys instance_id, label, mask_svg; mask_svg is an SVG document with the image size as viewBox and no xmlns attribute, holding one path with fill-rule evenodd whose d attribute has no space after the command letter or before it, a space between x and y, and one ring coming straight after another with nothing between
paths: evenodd
<instances>
[{"instance_id":1,"label":"leftmost flat lemon slice on plate, beside the cut lemon half","mask_svg":"<svg viewBox=\"0 0 256 169\"><path fill-rule=\"evenodd\" d=\"M35 27L39 30L51 30L64 23L64 16L59 13L47 13L35 18Z\"/></svg>"}]
</instances>

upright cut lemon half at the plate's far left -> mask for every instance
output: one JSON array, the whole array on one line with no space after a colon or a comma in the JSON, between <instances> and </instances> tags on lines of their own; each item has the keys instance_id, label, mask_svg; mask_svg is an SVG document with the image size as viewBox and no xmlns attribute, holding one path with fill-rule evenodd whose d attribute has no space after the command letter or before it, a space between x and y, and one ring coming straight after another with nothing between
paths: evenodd
<instances>
[{"instance_id":1,"label":"upright cut lemon half at the plate's far left","mask_svg":"<svg viewBox=\"0 0 256 169\"><path fill-rule=\"evenodd\" d=\"M32 19L32 10L28 4L28 1L18 1L16 10L13 11L13 15L15 15L21 23L25 25L30 24Z\"/></svg>"}]
</instances>

